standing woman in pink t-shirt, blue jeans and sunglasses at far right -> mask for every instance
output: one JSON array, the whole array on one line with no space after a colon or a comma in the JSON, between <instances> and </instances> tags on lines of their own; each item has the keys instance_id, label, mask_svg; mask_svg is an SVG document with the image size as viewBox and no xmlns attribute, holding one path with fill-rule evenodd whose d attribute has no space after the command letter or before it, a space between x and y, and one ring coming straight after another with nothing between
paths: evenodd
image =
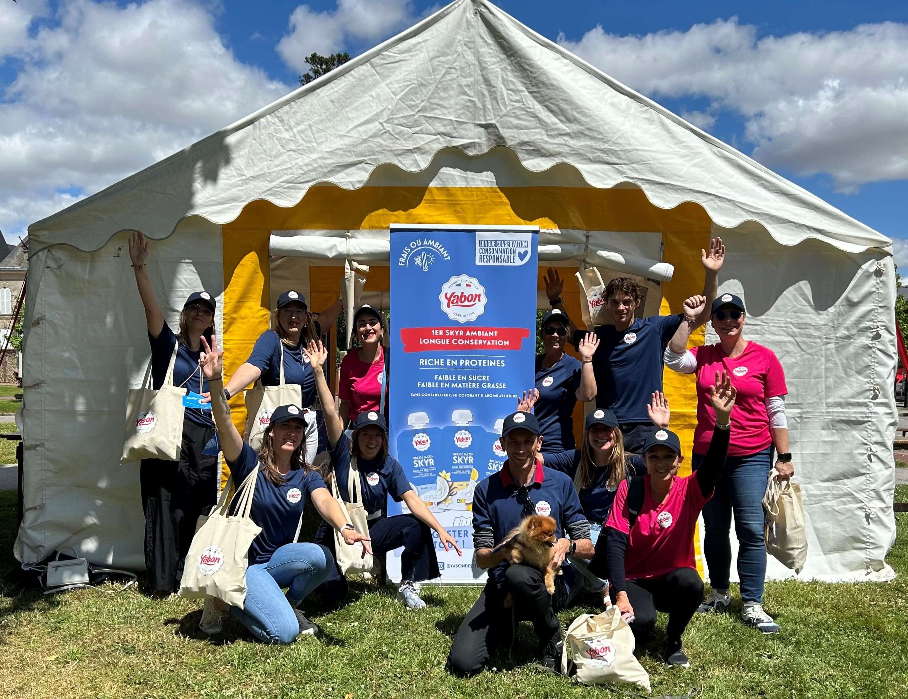
<instances>
[{"instance_id":1,"label":"standing woman in pink t-shirt, blue jeans and sunglasses at far right","mask_svg":"<svg viewBox=\"0 0 908 699\"><path fill-rule=\"evenodd\" d=\"M685 304L703 308L703 297ZM785 418L785 370L773 350L745 340L744 301L722 294L712 305L715 345L686 350L689 326L682 325L666 350L666 366L685 374L696 373L697 425L692 468L703 462L715 416L709 399L710 378L725 371L737 389L728 466L716 486L716 495L703 508L706 537L703 550L709 566L711 590L698 611L726 611L731 604L728 580L732 564L728 540L732 515L738 539L737 572L741 581L741 618L763 634L775 634L779 625L763 609L766 576L763 495L775 458L775 477L787 480L795 473L788 448Z\"/></svg>"}]
</instances>

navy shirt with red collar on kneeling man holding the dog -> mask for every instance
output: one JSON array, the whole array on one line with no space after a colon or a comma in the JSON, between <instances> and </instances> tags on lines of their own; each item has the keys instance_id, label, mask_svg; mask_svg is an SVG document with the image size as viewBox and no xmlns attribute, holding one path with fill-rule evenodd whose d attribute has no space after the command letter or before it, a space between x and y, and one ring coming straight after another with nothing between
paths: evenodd
<instances>
[{"instance_id":1,"label":"navy shirt with red collar on kneeling man holding the dog","mask_svg":"<svg viewBox=\"0 0 908 699\"><path fill-rule=\"evenodd\" d=\"M536 514L555 520L555 536L558 538L564 538L568 525L585 519L573 481L560 471L537 464L536 477L527 491ZM511 478L508 462L505 461L498 473L480 480L473 492L473 532L491 529L498 545L511 529L520 524L523 509L524 501L518 496L517 484ZM489 575L500 583L507 567L508 562L503 561L492 568ZM565 582L570 586L570 580Z\"/></svg>"}]
</instances>

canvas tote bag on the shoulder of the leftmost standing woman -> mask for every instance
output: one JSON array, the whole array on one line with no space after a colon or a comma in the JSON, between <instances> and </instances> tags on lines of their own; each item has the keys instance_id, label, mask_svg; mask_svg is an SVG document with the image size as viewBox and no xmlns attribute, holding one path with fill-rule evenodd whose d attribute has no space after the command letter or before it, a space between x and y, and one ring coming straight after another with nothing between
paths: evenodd
<instances>
[{"instance_id":1,"label":"canvas tote bag on the shoulder of the leftmost standing woman","mask_svg":"<svg viewBox=\"0 0 908 699\"><path fill-rule=\"evenodd\" d=\"M141 389L129 389L126 399L126 426L123 456L120 463L143 458L176 461L183 447L183 396L186 391L173 385L173 366L179 342L173 343L173 355L160 389L152 389L152 362Z\"/></svg>"}]
</instances>

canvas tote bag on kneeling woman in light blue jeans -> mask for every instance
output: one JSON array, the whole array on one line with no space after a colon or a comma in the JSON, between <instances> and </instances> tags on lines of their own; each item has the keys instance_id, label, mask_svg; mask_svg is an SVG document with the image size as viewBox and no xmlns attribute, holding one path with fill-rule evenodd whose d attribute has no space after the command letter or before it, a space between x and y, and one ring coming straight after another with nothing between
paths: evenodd
<instances>
[{"instance_id":1,"label":"canvas tote bag on kneeling woman in light blue jeans","mask_svg":"<svg viewBox=\"0 0 908 699\"><path fill-rule=\"evenodd\" d=\"M228 502L231 477L212 513L199 517L195 536L183 563L181 597L212 596L242 609L246 601L249 547L262 531L262 527L249 516L260 470L256 462L255 468ZM236 509L233 515L228 515L233 502Z\"/></svg>"}]
</instances>

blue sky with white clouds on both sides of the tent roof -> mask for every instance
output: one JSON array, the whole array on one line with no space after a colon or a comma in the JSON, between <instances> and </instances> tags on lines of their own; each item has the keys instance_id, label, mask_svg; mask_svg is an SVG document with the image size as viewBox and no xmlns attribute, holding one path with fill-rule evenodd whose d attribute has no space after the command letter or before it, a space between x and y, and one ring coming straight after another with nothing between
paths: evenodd
<instances>
[{"instance_id":1,"label":"blue sky with white clouds on both sides of the tent roof","mask_svg":"<svg viewBox=\"0 0 908 699\"><path fill-rule=\"evenodd\" d=\"M502 0L540 34L896 241L908 263L908 4ZM285 93L302 56L377 44L423 0L0 0L0 228Z\"/></svg>"}]
</instances>

